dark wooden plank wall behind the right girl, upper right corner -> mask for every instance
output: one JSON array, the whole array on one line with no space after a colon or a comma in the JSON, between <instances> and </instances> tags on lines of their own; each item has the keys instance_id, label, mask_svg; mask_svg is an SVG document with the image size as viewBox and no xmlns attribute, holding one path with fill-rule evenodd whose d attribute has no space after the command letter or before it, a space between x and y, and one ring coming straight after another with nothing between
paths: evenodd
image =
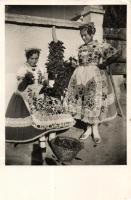
<instances>
[{"instance_id":1,"label":"dark wooden plank wall behind the right girl, upper right corner","mask_svg":"<svg viewBox=\"0 0 131 200\"><path fill-rule=\"evenodd\" d=\"M126 5L103 6L105 10L103 29L104 39L117 49L120 49L120 57L111 65L112 74L126 74Z\"/></svg>"}]
</instances>

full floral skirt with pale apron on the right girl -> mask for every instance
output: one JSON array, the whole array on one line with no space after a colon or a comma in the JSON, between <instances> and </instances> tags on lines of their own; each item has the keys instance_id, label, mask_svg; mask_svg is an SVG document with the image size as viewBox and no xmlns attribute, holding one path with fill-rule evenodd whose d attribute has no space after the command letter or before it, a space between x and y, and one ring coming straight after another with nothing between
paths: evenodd
<instances>
[{"instance_id":1,"label":"full floral skirt with pale apron on the right girl","mask_svg":"<svg viewBox=\"0 0 131 200\"><path fill-rule=\"evenodd\" d=\"M96 65L79 66L74 71L65 102L66 110L85 123L101 123L117 115L111 80Z\"/></svg>"}]
</instances>

